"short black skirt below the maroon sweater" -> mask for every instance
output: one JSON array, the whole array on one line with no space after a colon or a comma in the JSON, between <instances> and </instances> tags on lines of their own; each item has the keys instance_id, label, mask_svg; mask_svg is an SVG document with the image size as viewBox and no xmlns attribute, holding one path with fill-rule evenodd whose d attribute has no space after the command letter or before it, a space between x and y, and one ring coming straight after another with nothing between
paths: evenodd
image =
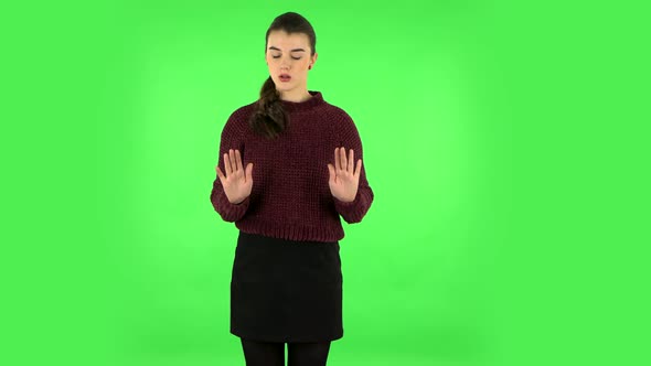
<instances>
[{"instance_id":1,"label":"short black skirt below the maroon sweater","mask_svg":"<svg viewBox=\"0 0 651 366\"><path fill-rule=\"evenodd\" d=\"M239 232L231 280L231 333L266 342L343 336L339 241Z\"/></svg>"}]
</instances>

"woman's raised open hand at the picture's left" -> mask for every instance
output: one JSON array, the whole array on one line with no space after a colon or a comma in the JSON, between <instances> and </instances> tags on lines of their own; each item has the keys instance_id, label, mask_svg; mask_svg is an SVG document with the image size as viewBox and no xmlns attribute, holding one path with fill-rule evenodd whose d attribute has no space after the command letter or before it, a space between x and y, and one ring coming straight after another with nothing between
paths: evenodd
<instances>
[{"instance_id":1,"label":"woman's raised open hand at the picture's left","mask_svg":"<svg viewBox=\"0 0 651 366\"><path fill-rule=\"evenodd\" d=\"M224 193L232 204L239 204L250 195L253 187L253 163L246 165L246 172L242 166L242 157L239 150L228 150L224 153L224 168L226 174L220 169L220 164L215 166L217 176L224 187Z\"/></svg>"}]
</instances>

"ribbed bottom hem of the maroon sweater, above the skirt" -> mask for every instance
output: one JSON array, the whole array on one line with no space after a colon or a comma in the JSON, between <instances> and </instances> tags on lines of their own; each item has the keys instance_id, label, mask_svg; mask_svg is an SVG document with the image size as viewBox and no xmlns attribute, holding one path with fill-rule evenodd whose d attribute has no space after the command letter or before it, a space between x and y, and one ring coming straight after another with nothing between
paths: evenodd
<instances>
[{"instance_id":1,"label":"ribbed bottom hem of the maroon sweater, above the skirt","mask_svg":"<svg viewBox=\"0 0 651 366\"><path fill-rule=\"evenodd\" d=\"M343 227L278 225L278 223L235 222L235 226L248 234L270 236L297 241L337 241L344 237Z\"/></svg>"}]
</instances>

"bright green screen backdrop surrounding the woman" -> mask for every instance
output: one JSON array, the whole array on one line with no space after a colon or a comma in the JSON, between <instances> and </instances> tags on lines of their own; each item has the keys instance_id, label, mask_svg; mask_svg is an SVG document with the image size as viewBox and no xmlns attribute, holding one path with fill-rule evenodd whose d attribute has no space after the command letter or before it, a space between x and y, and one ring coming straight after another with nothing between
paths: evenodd
<instances>
[{"instance_id":1,"label":"bright green screen backdrop surrounding the woman","mask_svg":"<svg viewBox=\"0 0 651 366\"><path fill-rule=\"evenodd\" d=\"M244 365L210 192L285 11L375 193L344 223L329 365L651 359L640 4L3 7L2 364Z\"/></svg>"}]
</instances>

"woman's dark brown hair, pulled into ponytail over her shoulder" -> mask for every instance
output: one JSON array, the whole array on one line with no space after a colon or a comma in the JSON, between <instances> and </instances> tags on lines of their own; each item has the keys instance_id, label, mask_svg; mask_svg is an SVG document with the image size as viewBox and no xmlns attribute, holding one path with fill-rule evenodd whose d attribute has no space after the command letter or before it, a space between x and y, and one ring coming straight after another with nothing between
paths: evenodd
<instances>
[{"instance_id":1,"label":"woman's dark brown hair, pulled into ponytail over her shoulder","mask_svg":"<svg viewBox=\"0 0 651 366\"><path fill-rule=\"evenodd\" d=\"M285 31L289 34L305 33L310 41L311 55L313 56L317 52L317 34L310 22L298 13L286 12L274 19L265 35L265 53L271 31ZM280 94L276 90L276 84L269 75L260 89L260 98L255 105L249 125L255 132L273 139L282 132L288 123L289 117L280 103Z\"/></svg>"}]
</instances>

